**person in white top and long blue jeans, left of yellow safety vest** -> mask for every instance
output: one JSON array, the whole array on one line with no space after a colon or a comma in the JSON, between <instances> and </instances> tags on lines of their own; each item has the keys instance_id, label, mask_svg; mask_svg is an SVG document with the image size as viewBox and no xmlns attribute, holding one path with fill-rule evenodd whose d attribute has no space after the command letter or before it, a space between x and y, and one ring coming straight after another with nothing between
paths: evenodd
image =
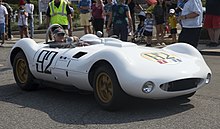
<instances>
[{"instance_id":1,"label":"person in white top and long blue jeans, left of yellow safety vest","mask_svg":"<svg viewBox=\"0 0 220 129\"><path fill-rule=\"evenodd\" d=\"M25 11L28 13L28 22L30 27L30 38L34 36L34 4L27 0L25 4Z\"/></svg>"}]
</instances>

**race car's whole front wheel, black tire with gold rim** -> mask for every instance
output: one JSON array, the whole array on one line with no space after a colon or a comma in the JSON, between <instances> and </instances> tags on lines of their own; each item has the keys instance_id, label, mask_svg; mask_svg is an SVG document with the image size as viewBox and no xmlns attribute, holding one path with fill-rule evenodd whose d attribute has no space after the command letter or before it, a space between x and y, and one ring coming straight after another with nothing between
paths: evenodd
<instances>
[{"instance_id":1,"label":"race car's whole front wheel, black tire with gold rim","mask_svg":"<svg viewBox=\"0 0 220 129\"><path fill-rule=\"evenodd\" d=\"M114 69L103 65L96 69L93 81L94 95L98 104L109 111L123 107L127 94L122 90Z\"/></svg>"}]
</instances>

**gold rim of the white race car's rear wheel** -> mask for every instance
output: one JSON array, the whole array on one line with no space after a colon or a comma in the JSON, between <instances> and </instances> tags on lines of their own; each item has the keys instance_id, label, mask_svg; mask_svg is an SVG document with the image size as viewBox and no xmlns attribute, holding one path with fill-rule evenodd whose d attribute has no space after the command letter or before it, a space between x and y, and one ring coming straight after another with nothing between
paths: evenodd
<instances>
[{"instance_id":1,"label":"gold rim of the white race car's rear wheel","mask_svg":"<svg viewBox=\"0 0 220 129\"><path fill-rule=\"evenodd\" d=\"M28 66L24 59L16 62L16 75L20 83L26 83L28 79Z\"/></svg>"}]
</instances>

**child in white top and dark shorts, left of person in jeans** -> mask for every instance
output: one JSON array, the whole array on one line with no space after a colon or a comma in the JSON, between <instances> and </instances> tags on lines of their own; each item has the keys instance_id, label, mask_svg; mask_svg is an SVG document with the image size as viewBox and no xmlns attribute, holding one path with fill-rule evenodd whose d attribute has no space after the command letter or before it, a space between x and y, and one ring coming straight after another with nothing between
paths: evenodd
<instances>
[{"instance_id":1,"label":"child in white top and dark shorts, left of person in jeans","mask_svg":"<svg viewBox=\"0 0 220 129\"><path fill-rule=\"evenodd\" d=\"M18 27L20 31L20 38L28 37L28 13L24 10L24 6L21 5L18 12Z\"/></svg>"}]
</instances>

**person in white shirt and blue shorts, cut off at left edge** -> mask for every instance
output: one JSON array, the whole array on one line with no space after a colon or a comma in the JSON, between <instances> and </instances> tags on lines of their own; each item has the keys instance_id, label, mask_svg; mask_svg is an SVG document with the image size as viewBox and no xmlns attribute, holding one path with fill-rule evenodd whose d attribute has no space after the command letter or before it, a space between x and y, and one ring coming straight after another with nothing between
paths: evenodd
<instances>
[{"instance_id":1,"label":"person in white shirt and blue shorts, cut off at left edge","mask_svg":"<svg viewBox=\"0 0 220 129\"><path fill-rule=\"evenodd\" d=\"M8 26L8 11L5 6L2 5L2 0L0 0L0 34L2 38L3 45L5 43L5 28Z\"/></svg>"}]
</instances>

